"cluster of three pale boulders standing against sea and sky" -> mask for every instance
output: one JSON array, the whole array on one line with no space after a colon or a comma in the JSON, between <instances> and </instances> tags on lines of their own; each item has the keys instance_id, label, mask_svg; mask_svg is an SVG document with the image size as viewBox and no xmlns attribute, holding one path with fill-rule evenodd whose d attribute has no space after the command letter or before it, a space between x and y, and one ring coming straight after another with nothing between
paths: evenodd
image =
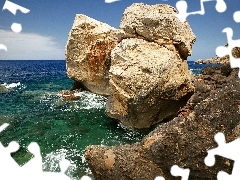
<instances>
[{"instance_id":1,"label":"cluster of three pale boulders standing against sea and sky","mask_svg":"<svg viewBox=\"0 0 240 180\"><path fill-rule=\"evenodd\" d=\"M166 4L135 3L120 29L76 15L66 46L68 76L81 89L109 96L108 116L128 127L174 117L194 91L185 59L196 39L176 13Z\"/></svg>"}]
</instances>

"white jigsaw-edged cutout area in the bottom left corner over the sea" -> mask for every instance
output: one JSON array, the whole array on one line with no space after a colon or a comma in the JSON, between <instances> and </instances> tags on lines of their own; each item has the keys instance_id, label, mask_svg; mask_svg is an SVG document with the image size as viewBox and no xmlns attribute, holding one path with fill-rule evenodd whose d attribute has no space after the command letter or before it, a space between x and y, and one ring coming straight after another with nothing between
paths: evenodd
<instances>
[{"instance_id":1,"label":"white jigsaw-edged cutout area in the bottom left corner over the sea","mask_svg":"<svg viewBox=\"0 0 240 180\"><path fill-rule=\"evenodd\" d=\"M8 127L9 124L4 123L0 126L0 132ZM32 142L28 146L28 151L34 155L22 167L12 158L11 153L19 150L19 144L15 141L9 143L7 147L4 147L0 143L0 179L20 179L20 180L70 180L65 174L70 165L70 161L62 159L59 163L61 172L44 172L42 170L42 156L40 147L37 143Z\"/></svg>"}]
</instances>

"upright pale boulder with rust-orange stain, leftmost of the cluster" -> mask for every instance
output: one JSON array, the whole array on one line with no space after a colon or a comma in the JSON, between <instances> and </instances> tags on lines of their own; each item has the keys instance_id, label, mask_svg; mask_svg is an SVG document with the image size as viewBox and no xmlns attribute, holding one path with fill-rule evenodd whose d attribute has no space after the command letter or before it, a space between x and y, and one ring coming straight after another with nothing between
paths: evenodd
<instances>
[{"instance_id":1,"label":"upright pale boulder with rust-orange stain, leftmost of the cluster","mask_svg":"<svg viewBox=\"0 0 240 180\"><path fill-rule=\"evenodd\" d=\"M93 93L109 95L110 52L119 30L77 14L66 45L67 75Z\"/></svg>"}]
</instances>

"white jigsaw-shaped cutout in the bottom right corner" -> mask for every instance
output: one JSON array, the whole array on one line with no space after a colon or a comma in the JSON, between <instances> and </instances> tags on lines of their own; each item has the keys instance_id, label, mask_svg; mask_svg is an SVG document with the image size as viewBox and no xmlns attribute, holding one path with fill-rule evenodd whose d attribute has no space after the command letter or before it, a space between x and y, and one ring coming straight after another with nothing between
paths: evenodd
<instances>
[{"instance_id":1,"label":"white jigsaw-shaped cutout in the bottom right corner","mask_svg":"<svg viewBox=\"0 0 240 180\"><path fill-rule=\"evenodd\" d=\"M207 166L213 166L215 164L215 155L219 155L234 161L232 174L229 175L224 171L220 171L217 175L218 180L236 180L240 177L240 139L226 143L225 136L223 133L217 133L214 137L218 143L218 147L208 150L208 155L204 159Z\"/></svg>"}]
</instances>

